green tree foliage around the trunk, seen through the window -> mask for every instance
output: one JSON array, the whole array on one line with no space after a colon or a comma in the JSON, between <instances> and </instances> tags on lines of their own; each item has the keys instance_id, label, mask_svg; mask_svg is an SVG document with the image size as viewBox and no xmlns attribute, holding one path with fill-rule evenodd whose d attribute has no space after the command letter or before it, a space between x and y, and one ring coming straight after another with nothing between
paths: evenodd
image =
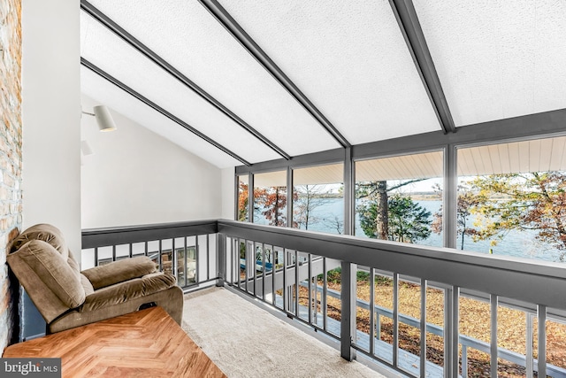
<instances>
[{"instance_id":1,"label":"green tree foliage around the trunk, seen through the window","mask_svg":"<svg viewBox=\"0 0 566 378\"><path fill-rule=\"evenodd\" d=\"M387 199L387 239L402 243L415 243L431 235L431 212L417 204L410 197L395 194ZM363 233L377 238L376 218L378 204L370 201L357 206Z\"/></svg>"}]
</instances>

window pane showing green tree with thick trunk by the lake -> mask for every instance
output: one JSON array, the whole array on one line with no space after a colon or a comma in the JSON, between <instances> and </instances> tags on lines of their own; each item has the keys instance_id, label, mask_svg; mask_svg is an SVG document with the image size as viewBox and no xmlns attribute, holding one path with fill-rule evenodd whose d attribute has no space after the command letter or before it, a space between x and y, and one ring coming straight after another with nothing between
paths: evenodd
<instances>
[{"instance_id":1,"label":"window pane showing green tree with thick trunk by the lake","mask_svg":"<svg viewBox=\"0 0 566 378\"><path fill-rule=\"evenodd\" d=\"M442 156L356 162L356 235L441 247Z\"/></svg>"}]
</instances>

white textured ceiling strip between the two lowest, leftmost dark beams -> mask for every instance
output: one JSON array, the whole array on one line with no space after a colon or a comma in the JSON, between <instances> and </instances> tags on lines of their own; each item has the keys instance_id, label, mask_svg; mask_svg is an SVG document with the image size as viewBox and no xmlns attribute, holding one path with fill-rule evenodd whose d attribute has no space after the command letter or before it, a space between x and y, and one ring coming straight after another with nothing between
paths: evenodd
<instances>
[{"instance_id":1,"label":"white textured ceiling strip between the two lowest, leftmost dark beams","mask_svg":"<svg viewBox=\"0 0 566 378\"><path fill-rule=\"evenodd\" d=\"M81 12L80 55L128 87L250 162L279 158L247 131L163 69ZM84 83L83 83L84 88ZM121 112L121 103L108 104ZM181 127L181 126L179 126Z\"/></svg>"}]
</instances>

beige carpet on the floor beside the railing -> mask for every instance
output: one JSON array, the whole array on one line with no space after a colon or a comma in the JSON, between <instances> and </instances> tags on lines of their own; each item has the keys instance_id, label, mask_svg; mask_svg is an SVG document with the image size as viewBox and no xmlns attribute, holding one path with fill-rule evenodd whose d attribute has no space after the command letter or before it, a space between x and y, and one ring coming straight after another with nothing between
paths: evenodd
<instances>
[{"instance_id":1,"label":"beige carpet on the floor beside the railing","mask_svg":"<svg viewBox=\"0 0 566 378\"><path fill-rule=\"evenodd\" d=\"M230 378L383 376L228 289L185 295L182 327Z\"/></svg>"}]
</instances>

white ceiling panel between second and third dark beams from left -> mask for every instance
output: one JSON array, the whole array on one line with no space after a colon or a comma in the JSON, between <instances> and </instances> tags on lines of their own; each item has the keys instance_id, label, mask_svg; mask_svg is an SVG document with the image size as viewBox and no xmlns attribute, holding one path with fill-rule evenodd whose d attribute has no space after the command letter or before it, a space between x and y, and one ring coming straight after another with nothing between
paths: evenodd
<instances>
[{"instance_id":1,"label":"white ceiling panel between second and third dark beams from left","mask_svg":"<svg viewBox=\"0 0 566 378\"><path fill-rule=\"evenodd\" d=\"M198 2L91 4L288 154L339 147Z\"/></svg>"}]
</instances>

